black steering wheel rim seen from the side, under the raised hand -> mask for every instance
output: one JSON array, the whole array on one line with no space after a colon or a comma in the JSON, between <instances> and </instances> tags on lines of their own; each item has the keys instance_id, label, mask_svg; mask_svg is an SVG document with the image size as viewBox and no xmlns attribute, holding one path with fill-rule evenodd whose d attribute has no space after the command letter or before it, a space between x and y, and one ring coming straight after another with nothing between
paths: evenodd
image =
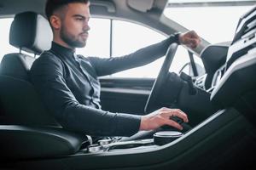
<instances>
[{"instance_id":1,"label":"black steering wheel rim seen from the side, under the raised hand","mask_svg":"<svg viewBox=\"0 0 256 170\"><path fill-rule=\"evenodd\" d=\"M166 59L160 69L158 77L154 81L153 88L148 96L148 101L145 105L144 111L146 113L154 111L154 105L160 99L160 91L163 90L163 84L165 84L166 79L168 78L169 69L172 64L172 60L177 51L177 43L172 43L166 52Z\"/></svg>"}]
</instances>

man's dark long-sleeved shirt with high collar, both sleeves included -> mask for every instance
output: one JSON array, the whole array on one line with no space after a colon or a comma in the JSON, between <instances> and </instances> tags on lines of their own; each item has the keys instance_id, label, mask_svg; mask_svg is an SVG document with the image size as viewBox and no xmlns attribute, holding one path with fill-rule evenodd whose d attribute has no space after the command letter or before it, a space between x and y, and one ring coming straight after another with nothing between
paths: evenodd
<instances>
[{"instance_id":1,"label":"man's dark long-sleeved shirt with high collar, both sleeves included","mask_svg":"<svg viewBox=\"0 0 256 170\"><path fill-rule=\"evenodd\" d=\"M33 63L32 83L62 127L96 136L137 133L141 116L102 111L98 77L146 65L166 54L174 37L116 58L84 57L52 42Z\"/></svg>"}]
</instances>

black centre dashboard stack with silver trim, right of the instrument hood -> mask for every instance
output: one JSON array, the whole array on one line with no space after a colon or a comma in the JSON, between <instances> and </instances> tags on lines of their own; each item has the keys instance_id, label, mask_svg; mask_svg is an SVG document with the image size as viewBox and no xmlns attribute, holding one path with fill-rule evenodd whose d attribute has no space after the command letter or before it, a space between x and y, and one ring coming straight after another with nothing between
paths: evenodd
<instances>
[{"instance_id":1,"label":"black centre dashboard stack with silver trim, right of the instrument hood","mask_svg":"<svg viewBox=\"0 0 256 170\"><path fill-rule=\"evenodd\" d=\"M234 106L254 120L256 113L256 8L244 15L227 59L212 78L211 100L221 107ZM254 121L253 124L256 124Z\"/></svg>"}]
</instances>

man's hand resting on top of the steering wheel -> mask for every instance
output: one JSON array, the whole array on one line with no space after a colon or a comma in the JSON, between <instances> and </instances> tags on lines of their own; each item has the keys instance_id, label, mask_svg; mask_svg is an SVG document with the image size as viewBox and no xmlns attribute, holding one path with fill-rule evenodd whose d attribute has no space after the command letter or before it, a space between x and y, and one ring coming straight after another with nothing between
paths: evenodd
<instances>
[{"instance_id":1,"label":"man's hand resting on top of the steering wheel","mask_svg":"<svg viewBox=\"0 0 256 170\"><path fill-rule=\"evenodd\" d=\"M195 31L187 31L181 33L178 37L181 44L188 46L189 48L196 48L201 43L201 38Z\"/></svg>"}]
</instances>

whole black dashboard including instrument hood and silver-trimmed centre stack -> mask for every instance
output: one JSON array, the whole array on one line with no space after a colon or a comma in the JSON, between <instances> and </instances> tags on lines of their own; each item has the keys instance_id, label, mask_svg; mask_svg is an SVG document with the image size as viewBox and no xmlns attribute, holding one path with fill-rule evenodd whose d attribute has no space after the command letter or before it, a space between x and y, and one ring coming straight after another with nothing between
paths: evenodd
<instances>
[{"instance_id":1,"label":"whole black dashboard including instrument hood and silver-trimmed centre stack","mask_svg":"<svg viewBox=\"0 0 256 170\"><path fill-rule=\"evenodd\" d=\"M256 10L253 8L241 16L232 42L212 44L202 51L207 74L195 81L219 108L234 106L249 120L256 113L255 34Z\"/></svg>"}]
</instances>

